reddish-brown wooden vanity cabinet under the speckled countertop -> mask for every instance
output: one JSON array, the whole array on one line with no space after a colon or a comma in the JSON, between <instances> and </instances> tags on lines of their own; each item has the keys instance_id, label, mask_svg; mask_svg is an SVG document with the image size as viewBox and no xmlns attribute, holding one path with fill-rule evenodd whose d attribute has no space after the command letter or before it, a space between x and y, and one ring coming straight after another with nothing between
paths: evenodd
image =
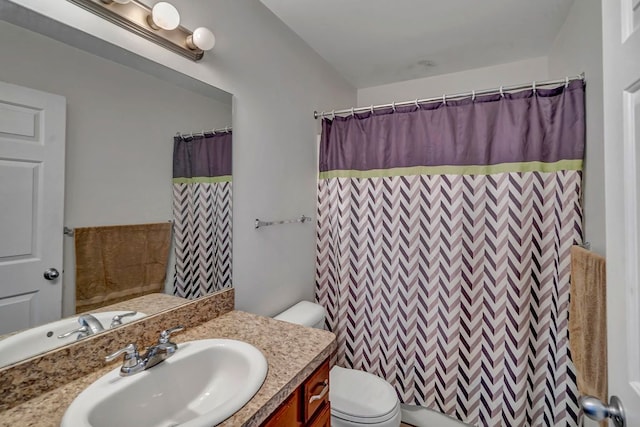
<instances>
[{"instance_id":1,"label":"reddish-brown wooden vanity cabinet under the speckled countertop","mask_svg":"<svg viewBox=\"0 0 640 427\"><path fill-rule=\"evenodd\" d=\"M325 361L265 421L263 427L329 427L329 361Z\"/></svg>"}]
</instances>

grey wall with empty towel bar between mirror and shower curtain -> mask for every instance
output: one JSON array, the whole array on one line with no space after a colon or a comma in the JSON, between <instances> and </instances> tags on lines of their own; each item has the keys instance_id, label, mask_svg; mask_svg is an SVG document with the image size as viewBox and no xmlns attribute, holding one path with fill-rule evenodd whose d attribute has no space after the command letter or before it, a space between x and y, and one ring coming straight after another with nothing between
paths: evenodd
<instances>
[{"instance_id":1,"label":"grey wall with empty towel bar between mirror and shower curtain","mask_svg":"<svg viewBox=\"0 0 640 427\"><path fill-rule=\"evenodd\" d=\"M236 307L274 314L313 298L315 227L253 228L255 218L315 217L315 109L353 105L356 91L258 0L178 0L187 28L217 46L199 63L65 0L12 0L234 94L233 281ZM4 66L4 64L3 64Z\"/></svg>"}]
</instances>

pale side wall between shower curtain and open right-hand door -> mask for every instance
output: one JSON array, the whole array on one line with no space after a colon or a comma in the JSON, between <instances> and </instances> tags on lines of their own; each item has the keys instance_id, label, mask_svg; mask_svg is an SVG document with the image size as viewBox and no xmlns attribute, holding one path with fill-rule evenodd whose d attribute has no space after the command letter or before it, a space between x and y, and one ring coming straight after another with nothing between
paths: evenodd
<instances>
[{"instance_id":1,"label":"pale side wall between shower curtain and open right-hand door","mask_svg":"<svg viewBox=\"0 0 640 427\"><path fill-rule=\"evenodd\" d=\"M585 72L587 147L584 173L585 239L605 253L602 10L600 0L573 2L551 52L549 74Z\"/></svg>"}]
</instances>

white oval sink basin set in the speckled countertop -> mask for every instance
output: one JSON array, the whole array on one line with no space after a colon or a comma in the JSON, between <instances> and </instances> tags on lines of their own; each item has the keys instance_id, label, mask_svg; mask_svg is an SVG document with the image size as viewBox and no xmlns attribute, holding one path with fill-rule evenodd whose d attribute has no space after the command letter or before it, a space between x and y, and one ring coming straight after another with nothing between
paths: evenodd
<instances>
[{"instance_id":1,"label":"white oval sink basin set in the speckled countertop","mask_svg":"<svg viewBox=\"0 0 640 427\"><path fill-rule=\"evenodd\" d=\"M175 355L129 377L114 369L87 387L61 427L212 427L244 406L267 376L264 355L242 341L178 344Z\"/></svg>"}]
</instances>

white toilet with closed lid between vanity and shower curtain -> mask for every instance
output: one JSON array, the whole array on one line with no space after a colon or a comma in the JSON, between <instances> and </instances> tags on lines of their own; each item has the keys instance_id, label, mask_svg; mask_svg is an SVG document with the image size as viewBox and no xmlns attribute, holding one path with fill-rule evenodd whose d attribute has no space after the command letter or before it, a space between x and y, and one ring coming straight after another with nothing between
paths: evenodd
<instances>
[{"instance_id":1,"label":"white toilet with closed lid between vanity and shower curtain","mask_svg":"<svg viewBox=\"0 0 640 427\"><path fill-rule=\"evenodd\" d=\"M301 301L275 317L298 325L324 329L324 308ZM339 366L329 373L332 427L398 427L400 400L382 378Z\"/></svg>"}]
</instances>

